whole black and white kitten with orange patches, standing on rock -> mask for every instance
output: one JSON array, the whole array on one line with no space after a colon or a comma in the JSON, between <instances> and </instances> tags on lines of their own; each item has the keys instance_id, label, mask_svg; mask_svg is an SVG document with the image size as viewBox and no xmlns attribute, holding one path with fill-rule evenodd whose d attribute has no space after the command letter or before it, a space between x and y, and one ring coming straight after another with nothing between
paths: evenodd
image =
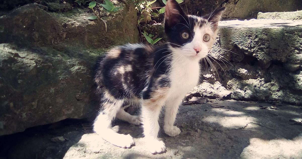
<instances>
[{"instance_id":1,"label":"whole black and white kitten with orange patches, standing on rock","mask_svg":"<svg viewBox=\"0 0 302 159\"><path fill-rule=\"evenodd\" d=\"M114 132L111 121L118 118L135 125L141 121L149 151L165 151L164 142L157 137L159 114L165 107L167 135L181 132L173 125L178 107L198 84L199 61L212 48L224 9L202 17L185 15L175 0L169 0L165 8L169 43L158 47L127 44L109 50L97 63L95 83L101 109L94 131L111 144L129 148L134 144L132 137ZM129 106L141 107L140 117L125 112Z\"/></svg>"}]
</instances>

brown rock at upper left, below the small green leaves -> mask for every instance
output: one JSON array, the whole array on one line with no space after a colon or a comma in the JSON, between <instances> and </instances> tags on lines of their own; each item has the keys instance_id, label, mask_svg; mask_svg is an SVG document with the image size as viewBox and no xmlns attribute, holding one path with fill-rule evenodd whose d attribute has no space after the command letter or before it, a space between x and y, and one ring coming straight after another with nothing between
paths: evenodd
<instances>
[{"instance_id":1,"label":"brown rock at upper left, below the small green leaves","mask_svg":"<svg viewBox=\"0 0 302 159\"><path fill-rule=\"evenodd\" d=\"M33 14L34 13L34 14ZM91 14L91 13L90 13ZM105 13L101 13L105 14ZM89 21L85 10L73 8L69 12L47 12L34 4L27 4L0 17L0 43L15 42L21 46L72 43L93 47L135 42L138 40L136 11L133 5L124 7L107 20Z\"/></svg>"}]
</instances>

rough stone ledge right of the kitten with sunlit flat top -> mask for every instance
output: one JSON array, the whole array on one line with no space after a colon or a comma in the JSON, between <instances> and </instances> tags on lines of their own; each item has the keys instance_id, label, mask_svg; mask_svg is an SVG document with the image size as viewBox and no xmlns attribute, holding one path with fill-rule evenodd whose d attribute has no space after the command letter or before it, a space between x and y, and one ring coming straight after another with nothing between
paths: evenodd
<instances>
[{"instance_id":1,"label":"rough stone ledge right of the kitten with sunlit flat top","mask_svg":"<svg viewBox=\"0 0 302 159\"><path fill-rule=\"evenodd\" d=\"M163 25L151 25L146 30L165 37L162 28ZM301 21L220 22L218 38L209 58L214 67L202 61L204 76L201 81L204 81L191 93L220 97L218 90L227 88L236 100L302 105L301 46Z\"/></svg>"}]
</instances>

